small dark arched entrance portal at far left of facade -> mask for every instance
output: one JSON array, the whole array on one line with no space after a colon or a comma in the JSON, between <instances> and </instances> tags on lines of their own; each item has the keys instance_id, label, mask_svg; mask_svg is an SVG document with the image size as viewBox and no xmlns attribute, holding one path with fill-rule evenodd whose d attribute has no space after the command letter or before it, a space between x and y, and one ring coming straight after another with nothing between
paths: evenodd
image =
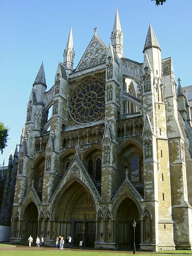
<instances>
[{"instance_id":1,"label":"small dark arched entrance portal at far left of facade","mask_svg":"<svg viewBox=\"0 0 192 256\"><path fill-rule=\"evenodd\" d=\"M22 223L22 238L29 238L32 236L33 239L36 238L38 231L38 210L33 202L29 203L23 213L23 223Z\"/></svg>"}]
</instances>

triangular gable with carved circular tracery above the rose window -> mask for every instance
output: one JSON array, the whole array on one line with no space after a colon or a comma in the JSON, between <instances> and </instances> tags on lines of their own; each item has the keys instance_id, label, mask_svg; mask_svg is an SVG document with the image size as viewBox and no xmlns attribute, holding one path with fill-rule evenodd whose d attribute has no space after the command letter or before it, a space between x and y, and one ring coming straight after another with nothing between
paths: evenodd
<instances>
[{"instance_id":1,"label":"triangular gable with carved circular tracery above the rose window","mask_svg":"<svg viewBox=\"0 0 192 256\"><path fill-rule=\"evenodd\" d=\"M88 67L94 67L106 62L108 47L103 43L99 36L95 33L91 39L87 49L85 50L76 71L84 70Z\"/></svg>"}]
</instances>

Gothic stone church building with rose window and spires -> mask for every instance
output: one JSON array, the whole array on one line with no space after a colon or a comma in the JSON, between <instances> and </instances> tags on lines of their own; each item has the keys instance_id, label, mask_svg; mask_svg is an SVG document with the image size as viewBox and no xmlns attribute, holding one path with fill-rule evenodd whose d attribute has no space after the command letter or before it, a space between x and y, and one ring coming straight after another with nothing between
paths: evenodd
<instances>
[{"instance_id":1,"label":"Gothic stone church building with rose window and spires","mask_svg":"<svg viewBox=\"0 0 192 256\"><path fill-rule=\"evenodd\" d=\"M111 44L95 28L76 69L70 29L49 90L41 64L21 134L11 242L38 235L54 246L70 235L73 246L131 249L135 220L140 250L192 248L192 106L151 24L143 44L143 63L124 57L116 10Z\"/></svg>"}]
</instances>

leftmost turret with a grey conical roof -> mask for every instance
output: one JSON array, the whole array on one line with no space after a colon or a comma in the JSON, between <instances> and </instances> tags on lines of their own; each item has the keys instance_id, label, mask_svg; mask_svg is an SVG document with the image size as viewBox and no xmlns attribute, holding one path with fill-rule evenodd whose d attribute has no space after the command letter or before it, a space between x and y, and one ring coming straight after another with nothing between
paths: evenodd
<instances>
[{"instance_id":1,"label":"leftmost turret with a grey conical roof","mask_svg":"<svg viewBox=\"0 0 192 256\"><path fill-rule=\"evenodd\" d=\"M36 91L35 94L36 94L37 102L42 102L43 95L47 89L43 61L42 61L41 67L38 71L38 74L35 78L35 81L33 83L33 89Z\"/></svg>"}]
</instances>

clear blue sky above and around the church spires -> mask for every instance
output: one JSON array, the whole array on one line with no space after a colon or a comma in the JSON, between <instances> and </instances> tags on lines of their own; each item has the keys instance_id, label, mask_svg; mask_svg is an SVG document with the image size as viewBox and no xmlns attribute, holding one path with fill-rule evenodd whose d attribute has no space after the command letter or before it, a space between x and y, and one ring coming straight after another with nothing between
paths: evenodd
<instances>
[{"instance_id":1,"label":"clear blue sky above and around the church spires","mask_svg":"<svg viewBox=\"0 0 192 256\"><path fill-rule=\"evenodd\" d=\"M32 84L44 61L47 89L54 84L58 61L63 61L70 26L79 63L93 29L108 46L118 8L124 35L124 56L143 62L149 22L162 50L172 56L175 79L192 84L192 1L167 0L0 0L0 121L9 126L8 147L0 164L8 164L11 148L20 143Z\"/></svg>"}]
</instances>

